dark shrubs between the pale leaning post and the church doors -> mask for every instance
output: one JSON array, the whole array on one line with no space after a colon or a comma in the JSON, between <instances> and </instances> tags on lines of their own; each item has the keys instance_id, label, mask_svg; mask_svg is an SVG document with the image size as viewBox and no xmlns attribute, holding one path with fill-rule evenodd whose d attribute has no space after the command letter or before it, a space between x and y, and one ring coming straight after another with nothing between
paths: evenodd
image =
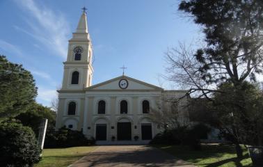
<instances>
[{"instance_id":1,"label":"dark shrubs between the pale leaning post and the church doors","mask_svg":"<svg viewBox=\"0 0 263 167\"><path fill-rule=\"evenodd\" d=\"M82 132L72 131L65 127L57 132L47 133L45 139L45 148L69 148L94 144L94 138L87 139Z\"/></svg>"}]
</instances>

